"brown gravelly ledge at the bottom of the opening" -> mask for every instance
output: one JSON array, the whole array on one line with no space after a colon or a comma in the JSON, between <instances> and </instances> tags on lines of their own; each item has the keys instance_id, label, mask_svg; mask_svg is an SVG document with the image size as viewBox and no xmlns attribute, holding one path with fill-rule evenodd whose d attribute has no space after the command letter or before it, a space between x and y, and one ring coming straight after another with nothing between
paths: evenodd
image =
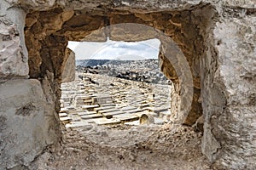
<instances>
[{"instance_id":1,"label":"brown gravelly ledge at the bottom of the opening","mask_svg":"<svg viewBox=\"0 0 256 170\"><path fill-rule=\"evenodd\" d=\"M86 126L63 130L30 169L211 169L201 154L201 133L172 124Z\"/></svg>"}]
</instances>

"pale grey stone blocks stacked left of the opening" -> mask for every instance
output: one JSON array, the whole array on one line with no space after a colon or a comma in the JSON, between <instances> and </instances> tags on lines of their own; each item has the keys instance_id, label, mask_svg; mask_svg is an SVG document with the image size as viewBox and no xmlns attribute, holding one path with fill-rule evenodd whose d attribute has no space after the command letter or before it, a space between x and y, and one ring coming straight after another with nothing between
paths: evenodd
<instances>
[{"instance_id":1,"label":"pale grey stone blocks stacked left of the opening","mask_svg":"<svg viewBox=\"0 0 256 170\"><path fill-rule=\"evenodd\" d=\"M0 169L20 169L61 138L60 122L49 77L28 79L26 12L0 8Z\"/></svg>"}]
</instances>

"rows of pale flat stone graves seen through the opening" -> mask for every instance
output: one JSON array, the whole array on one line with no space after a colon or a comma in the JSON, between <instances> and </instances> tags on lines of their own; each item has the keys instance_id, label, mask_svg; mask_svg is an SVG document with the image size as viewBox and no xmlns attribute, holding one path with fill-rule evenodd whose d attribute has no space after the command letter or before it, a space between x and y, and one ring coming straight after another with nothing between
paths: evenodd
<instances>
[{"instance_id":1,"label":"rows of pale flat stone graves seen through the opening","mask_svg":"<svg viewBox=\"0 0 256 170\"><path fill-rule=\"evenodd\" d=\"M61 84L60 120L66 127L168 122L170 88L83 73Z\"/></svg>"}]
</instances>

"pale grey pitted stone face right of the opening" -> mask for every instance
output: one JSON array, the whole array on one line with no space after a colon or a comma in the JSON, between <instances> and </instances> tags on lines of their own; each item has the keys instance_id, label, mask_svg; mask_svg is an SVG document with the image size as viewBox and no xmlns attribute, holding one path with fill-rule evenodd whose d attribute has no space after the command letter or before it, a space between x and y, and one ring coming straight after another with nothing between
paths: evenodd
<instances>
[{"instance_id":1,"label":"pale grey pitted stone face right of the opening","mask_svg":"<svg viewBox=\"0 0 256 170\"><path fill-rule=\"evenodd\" d=\"M222 168L256 167L255 23L255 16L241 13L220 20L213 30L219 58L213 82L204 82L210 97L203 101L207 108L203 150ZM212 148L207 146L209 140Z\"/></svg>"}]
</instances>

